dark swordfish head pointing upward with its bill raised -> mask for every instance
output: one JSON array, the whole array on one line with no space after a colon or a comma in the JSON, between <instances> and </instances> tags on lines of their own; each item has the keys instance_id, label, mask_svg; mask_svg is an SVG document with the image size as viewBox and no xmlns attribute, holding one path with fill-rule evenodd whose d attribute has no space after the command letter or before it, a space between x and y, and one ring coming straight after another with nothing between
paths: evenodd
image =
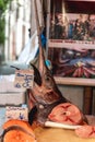
<instances>
[{"instance_id":1,"label":"dark swordfish head pointing upward with its bill raised","mask_svg":"<svg viewBox=\"0 0 95 142\"><path fill-rule=\"evenodd\" d=\"M34 86L32 88L34 102L43 105L54 104L61 98L67 102L58 90L54 76L45 63L44 49L40 45L41 43L39 43L38 68L31 64L34 69Z\"/></svg>"}]
</instances>

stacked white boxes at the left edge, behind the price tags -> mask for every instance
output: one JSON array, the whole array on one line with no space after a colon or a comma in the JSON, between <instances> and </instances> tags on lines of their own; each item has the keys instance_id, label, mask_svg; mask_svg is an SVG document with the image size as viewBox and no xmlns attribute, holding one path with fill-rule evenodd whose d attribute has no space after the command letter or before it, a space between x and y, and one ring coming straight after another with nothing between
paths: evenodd
<instances>
[{"instance_id":1,"label":"stacked white boxes at the left edge, behind the price tags","mask_svg":"<svg viewBox=\"0 0 95 142\"><path fill-rule=\"evenodd\" d=\"M14 74L0 76L0 106L25 103L25 90L14 86Z\"/></svg>"}]
</instances>

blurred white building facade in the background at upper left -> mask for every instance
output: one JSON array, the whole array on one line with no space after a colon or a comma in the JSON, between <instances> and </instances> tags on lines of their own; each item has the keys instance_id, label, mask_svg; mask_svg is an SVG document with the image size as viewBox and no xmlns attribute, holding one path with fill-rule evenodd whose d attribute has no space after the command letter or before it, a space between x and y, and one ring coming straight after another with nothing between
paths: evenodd
<instances>
[{"instance_id":1,"label":"blurred white building facade in the background at upper left","mask_svg":"<svg viewBox=\"0 0 95 142\"><path fill-rule=\"evenodd\" d=\"M13 0L5 12L4 59L15 60L29 38L31 0Z\"/></svg>"}]
</instances>

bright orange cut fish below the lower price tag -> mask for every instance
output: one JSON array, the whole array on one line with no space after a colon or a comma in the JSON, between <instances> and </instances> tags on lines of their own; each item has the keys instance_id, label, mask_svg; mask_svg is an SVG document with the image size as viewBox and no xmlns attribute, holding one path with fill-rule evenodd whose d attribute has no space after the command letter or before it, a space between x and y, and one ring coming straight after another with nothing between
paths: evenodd
<instances>
[{"instance_id":1,"label":"bright orange cut fish below the lower price tag","mask_svg":"<svg viewBox=\"0 0 95 142\"><path fill-rule=\"evenodd\" d=\"M10 142L10 141L28 141L36 142L35 133L32 129L32 126L27 121L11 119L5 121L2 125L3 132L0 135L0 142Z\"/></svg>"}]
</instances>

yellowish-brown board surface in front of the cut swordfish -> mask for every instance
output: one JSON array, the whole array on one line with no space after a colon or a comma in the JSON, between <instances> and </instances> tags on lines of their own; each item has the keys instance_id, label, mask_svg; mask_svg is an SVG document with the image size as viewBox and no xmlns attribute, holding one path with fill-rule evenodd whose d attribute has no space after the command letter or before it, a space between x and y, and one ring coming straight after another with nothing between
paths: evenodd
<instances>
[{"instance_id":1,"label":"yellowish-brown board surface in front of the cut swordfish","mask_svg":"<svg viewBox=\"0 0 95 142\"><path fill-rule=\"evenodd\" d=\"M79 138L69 129L38 127L34 131L37 142L95 142L95 139Z\"/></svg>"}]
</instances>

